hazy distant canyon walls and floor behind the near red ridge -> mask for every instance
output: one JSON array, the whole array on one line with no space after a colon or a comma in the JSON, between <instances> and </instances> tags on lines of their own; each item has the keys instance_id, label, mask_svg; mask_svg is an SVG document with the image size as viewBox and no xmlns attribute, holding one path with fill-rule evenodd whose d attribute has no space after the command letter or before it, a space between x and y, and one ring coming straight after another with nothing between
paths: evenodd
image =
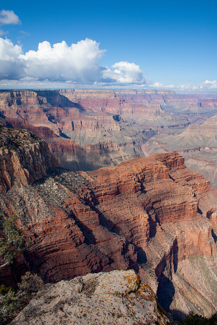
<instances>
[{"instance_id":1,"label":"hazy distant canyon walls and floor behind the near red ridge","mask_svg":"<svg viewBox=\"0 0 217 325\"><path fill-rule=\"evenodd\" d=\"M44 138L72 171L114 166L151 153L179 152L217 188L217 93L172 90L0 91L9 127Z\"/></svg>"}]
</instances>

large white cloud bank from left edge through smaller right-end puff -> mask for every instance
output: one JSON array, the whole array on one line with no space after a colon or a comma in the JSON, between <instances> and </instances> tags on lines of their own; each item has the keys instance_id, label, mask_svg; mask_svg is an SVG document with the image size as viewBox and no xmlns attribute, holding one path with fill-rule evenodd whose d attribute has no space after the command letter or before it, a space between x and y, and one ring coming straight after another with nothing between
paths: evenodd
<instances>
[{"instance_id":1,"label":"large white cloud bank from left edge through smaller right-end puff","mask_svg":"<svg viewBox=\"0 0 217 325\"><path fill-rule=\"evenodd\" d=\"M86 38L68 46L65 41L51 46L39 43L37 51L22 52L9 39L0 38L0 79L39 80L83 85L144 85L146 79L135 63L117 62L114 71L98 64L106 50Z\"/></svg>"}]
</instances>

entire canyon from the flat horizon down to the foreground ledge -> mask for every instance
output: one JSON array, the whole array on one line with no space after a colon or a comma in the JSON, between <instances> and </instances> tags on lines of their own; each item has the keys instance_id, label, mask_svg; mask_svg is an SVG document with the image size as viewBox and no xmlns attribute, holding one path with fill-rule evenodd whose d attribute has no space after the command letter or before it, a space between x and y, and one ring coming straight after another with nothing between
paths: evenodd
<instances>
[{"instance_id":1,"label":"entire canyon from the flat horizon down to the foreground ledge","mask_svg":"<svg viewBox=\"0 0 217 325\"><path fill-rule=\"evenodd\" d=\"M214 92L1 91L1 225L31 241L1 284L133 269L175 319L216 313L216 117Z\"/></svg>"}]
</instances>

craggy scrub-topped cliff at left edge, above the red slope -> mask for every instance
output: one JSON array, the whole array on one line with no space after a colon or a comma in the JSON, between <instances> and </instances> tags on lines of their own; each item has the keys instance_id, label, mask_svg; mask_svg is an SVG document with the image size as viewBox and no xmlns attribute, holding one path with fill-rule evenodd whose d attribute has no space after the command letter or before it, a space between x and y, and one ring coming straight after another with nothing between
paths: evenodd
<instances>
[{"instance_id":1,"label":"craggy scrub-topped cliff at left edge, above the red slope","mask_svg":"<svg viewBox=\"0 0 217 325\"><path fill-rule=\"evenodd\" d=\"M0 126L0 190L28 185L57 167L48 145L26 130Z\"/></svg>"}]
</instances>

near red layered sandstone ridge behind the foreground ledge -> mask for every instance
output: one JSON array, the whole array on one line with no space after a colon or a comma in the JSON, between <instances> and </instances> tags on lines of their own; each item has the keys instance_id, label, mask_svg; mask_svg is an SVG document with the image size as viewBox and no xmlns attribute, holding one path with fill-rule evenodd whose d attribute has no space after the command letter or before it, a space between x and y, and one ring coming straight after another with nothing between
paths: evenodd
<instances>
[{"instance_id":1,"label":"near red layered sandstone ridge behind the foreground ledge","mask_svg":"<svg viewBox=\"0 0 217 325\"><path fill-rule=\"evenodd\" d=\"M206 269L214 274L217 192L203 175L186 168L178 153L87 173L56 168L33 184L3 189L0 207L3 215L17 214L18 227L32 242L11 266L1 268L1 283L15 284L26 270L54 283L134 269L177 318L190 310L206 316L217 310L215 290L209 296L206 286L194 281L195 266L191 278L183 272L191 258L205 256L212 261ZM212 281L214 288L214 276Z\"/></svg>"}]
</instances>

